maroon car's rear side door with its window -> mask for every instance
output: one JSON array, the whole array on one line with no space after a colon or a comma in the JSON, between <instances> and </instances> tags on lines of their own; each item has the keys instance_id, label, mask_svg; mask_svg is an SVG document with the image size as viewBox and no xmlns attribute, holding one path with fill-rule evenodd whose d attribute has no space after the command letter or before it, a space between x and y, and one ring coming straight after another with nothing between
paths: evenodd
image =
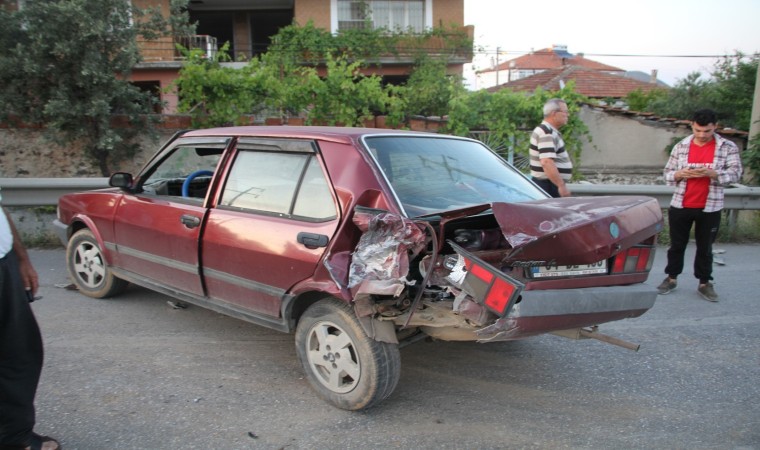
<instances>
[{"instance_id":1,"label":"maroon car's rear side door with its window","mask_svg":"<svg viewBox=\"0 0 760 450\"><path fill-rule=\"evenodd\" d=\"M288 290L314 274L338 223L313 141L240 139L203 235L209 297L278 317Z\"/></svg>"}]
</instances>

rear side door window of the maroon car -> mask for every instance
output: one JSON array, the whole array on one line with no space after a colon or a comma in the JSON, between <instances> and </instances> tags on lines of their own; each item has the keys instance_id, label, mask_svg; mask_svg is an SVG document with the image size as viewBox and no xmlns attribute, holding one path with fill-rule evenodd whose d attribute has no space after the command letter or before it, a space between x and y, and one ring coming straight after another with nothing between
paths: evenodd
<instances>
[{"instance_id":1,"label":"rear side door window of the maroon car","mask_svg":"<svg viewBox=\"0 0 760 450\"><path fill-rule=\"evenodd\" d=\"M313 154L241 151L221 206L314 221L336 217L330 188Z\"/></svg>"}]
</instances>

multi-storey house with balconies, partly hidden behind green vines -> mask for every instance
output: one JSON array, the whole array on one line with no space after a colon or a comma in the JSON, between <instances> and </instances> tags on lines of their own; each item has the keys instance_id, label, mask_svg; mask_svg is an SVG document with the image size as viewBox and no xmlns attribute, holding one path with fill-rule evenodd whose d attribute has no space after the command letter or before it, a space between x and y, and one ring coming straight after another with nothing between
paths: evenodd
<instances>
[{"instance_id":1,"label":"multi-storey house with balconies, partly hidden behind green vines","mask_svg":"<svg viewBox=\"0 0 760 450\"><path fill-rule=\"evenodd\" d=\"M159 6L165 14L169 11L170 0L132 2L141 8ZM412 33L460 27L470 38L473 35L473 27L464 25L464 0L190 0L188 12L191 22L197 23L197 34L189 42L181 42L183 45L212 56L229 42L230 55L241 61L266 52L270 38L292 23L305 25L311 21L333 34L369 24ZM142 42L144 61L131 74L132 82L161 95L165 113L175 112L178 100L176 93L166 92L182 67L174 44L171 38ZM451 55L447 59L449 72L462 74L464 64L472 61L472 48ZM399 82L408 77L413 62L410 56L389 56L365 71L388 82Z\"/></svg>"}]
</instances>

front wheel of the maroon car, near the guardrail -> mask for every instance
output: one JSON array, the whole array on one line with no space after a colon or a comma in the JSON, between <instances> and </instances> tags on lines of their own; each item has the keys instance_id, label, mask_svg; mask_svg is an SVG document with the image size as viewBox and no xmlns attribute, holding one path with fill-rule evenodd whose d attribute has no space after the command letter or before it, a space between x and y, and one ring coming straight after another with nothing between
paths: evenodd
<instances>
[{"instance_id":1,"label":"front wheel of the maroon car, near the guardrail","mask_svg":"<svg viewBox=\"0 0 760 450\"><path fill-rule=\"evenodd\" d=\"M118 295L129 285L127 281L113 275L97 239L87 228L77 231L69 239L66 267L79 292L88 297Z\"/></svg>"}]
</instances>

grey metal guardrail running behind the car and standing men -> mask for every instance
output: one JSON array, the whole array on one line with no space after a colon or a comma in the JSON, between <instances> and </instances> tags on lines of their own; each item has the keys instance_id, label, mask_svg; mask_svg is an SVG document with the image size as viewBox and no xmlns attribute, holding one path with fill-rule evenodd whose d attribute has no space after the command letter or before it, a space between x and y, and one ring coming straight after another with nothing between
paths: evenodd
<instances>
[{"instance_id":1,"label":"grey metal guardrail running behind the car and standing men","mask_svg":"<svg viewBox=\"0 0 760 450\"><path fill-rule=\"evenodd\" d=\"M108 187L108 178L0 178L4 206L55 206L58 197L78 191ZM654 197L662 208L670 204L673 188L648 184L571 184L578 196L646 195ZM726 188L725 209L760 210L760 187L734 185Z\"/></svg>"}]
</instances>

